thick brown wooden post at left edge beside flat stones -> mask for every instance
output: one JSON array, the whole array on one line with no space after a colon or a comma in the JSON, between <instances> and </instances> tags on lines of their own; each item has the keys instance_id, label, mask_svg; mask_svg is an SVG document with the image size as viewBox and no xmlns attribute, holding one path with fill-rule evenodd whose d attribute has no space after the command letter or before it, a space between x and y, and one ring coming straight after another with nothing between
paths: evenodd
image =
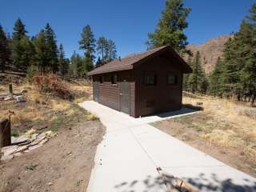
<instances>
[{"instance_id":1,"label":"thick brown wooden post at left edge beside flat stones","mask_svg":"<svg viewBox=\"0 0 256 192\"><path fill-rule=\"evenodd\" d=\"M10 121L6 118L0 120L0 148L10 145Z\"/></svg>"}]
</instances>

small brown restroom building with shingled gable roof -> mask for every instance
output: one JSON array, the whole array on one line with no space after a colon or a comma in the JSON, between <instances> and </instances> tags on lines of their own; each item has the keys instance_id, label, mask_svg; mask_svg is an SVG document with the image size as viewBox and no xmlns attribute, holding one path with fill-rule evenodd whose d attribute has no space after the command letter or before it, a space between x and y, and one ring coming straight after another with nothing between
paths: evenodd
<instances>
[{"instance_id":1,"label":"small brown restroom building with shingled gable roof","mask_svg":"<svg viewBox=\"0 0 256 192\"><path fill-rule=\"evenodd\" d=\"M95 102L138 118L182 107L190 66L170 47L130 54L91 70Z\"/></svg>"}]
</instances>

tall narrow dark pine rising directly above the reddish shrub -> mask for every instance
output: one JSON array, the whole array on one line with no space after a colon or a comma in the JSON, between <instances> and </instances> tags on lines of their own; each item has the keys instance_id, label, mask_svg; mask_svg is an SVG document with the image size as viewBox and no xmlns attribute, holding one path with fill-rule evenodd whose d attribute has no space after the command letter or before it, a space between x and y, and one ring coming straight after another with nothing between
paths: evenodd
<instances>
[{"instance_id":1,"label":"tall narrow dark pine rising directly above the reddish shrub","mask_svg":"<svg viewBox=\"0 0 256 192\"><path fill-rule=\"evenodd\" d=\"M45 27L46 45L47 45L47 60L50 69L54 74L58 71L58 46L54 30L47 23Z\"/></svg>"}]
</instances>

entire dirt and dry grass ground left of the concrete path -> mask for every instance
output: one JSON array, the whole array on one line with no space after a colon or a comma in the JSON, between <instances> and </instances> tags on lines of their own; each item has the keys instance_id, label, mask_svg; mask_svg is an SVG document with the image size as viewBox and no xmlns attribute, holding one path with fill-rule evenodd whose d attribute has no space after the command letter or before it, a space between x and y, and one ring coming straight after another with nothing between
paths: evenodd
<instances>
[{"instance_id":1,"label":"entire dirt and dry grass ground left of the concrete path","mask_svg":"<svg viewBox=\"0 0 256 192\"><path fill-rule=\"evenodd\" d=\"M21 93L26 102L0 99L0 118L11 116L14 137L51 130L58 135L43 146L21 156L0 162L0 192L9 191L85 191L94 155L102 141L105 127L93 114L83 110L77 102L91 98L90 82L66 82L74 100L52 97L39 91L24 78L0 75L0 96L6 97L8 83L13 82L14 93Z\"/></svg>"}]
</instances>

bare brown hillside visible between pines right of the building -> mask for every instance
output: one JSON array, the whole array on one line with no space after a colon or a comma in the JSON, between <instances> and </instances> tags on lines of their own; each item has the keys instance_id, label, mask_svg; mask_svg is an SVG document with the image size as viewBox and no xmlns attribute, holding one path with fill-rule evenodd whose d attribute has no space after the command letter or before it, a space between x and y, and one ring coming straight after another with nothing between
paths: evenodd
<instances>
[{"instance_id":1,"label":"bare brown hillside visible between pines right of the building","mask_svg":"<svg viewBox=\"0 0 256 192\"><path fill-rule=\"evenodd\" d=\"M202 57L202 66L206 71L206 74L210 74L214 70L214 66L218 57L222 56L225 42L230 38L230 35L219 36L218 38L212 38L209 41L201 45L189 45L187 48L195 54L200 52Z\"/></svg>"}]
</instances>

